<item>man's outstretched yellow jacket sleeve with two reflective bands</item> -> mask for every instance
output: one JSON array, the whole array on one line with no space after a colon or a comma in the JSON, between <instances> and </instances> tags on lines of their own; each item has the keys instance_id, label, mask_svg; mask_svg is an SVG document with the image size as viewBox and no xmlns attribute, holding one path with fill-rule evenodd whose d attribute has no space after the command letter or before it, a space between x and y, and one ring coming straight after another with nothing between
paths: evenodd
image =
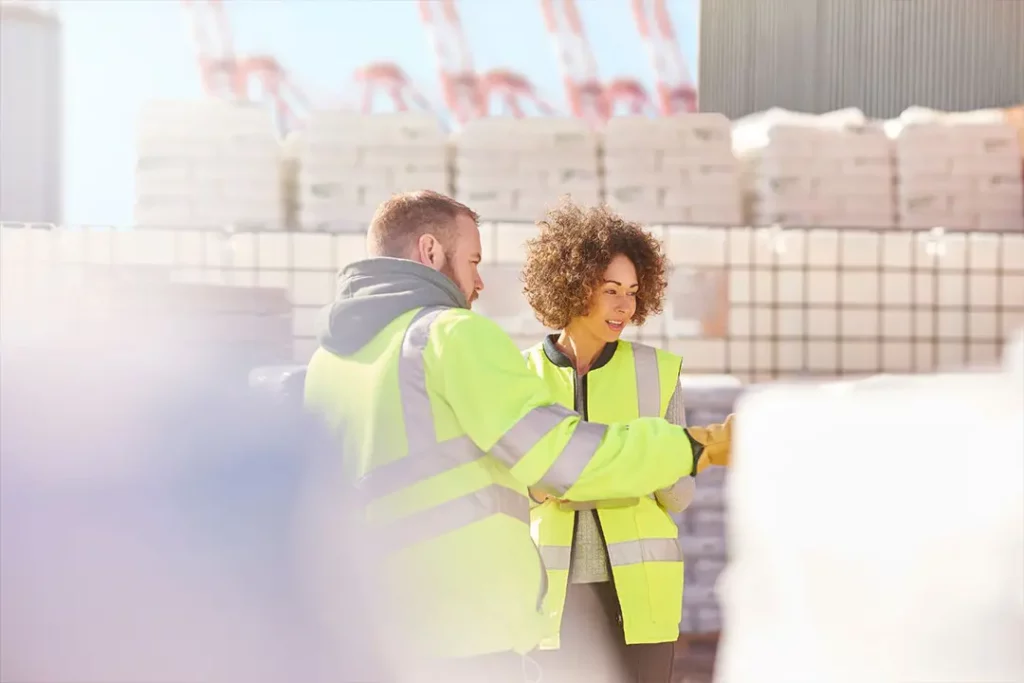
<instances>
[{"instance_id":1,"label":"man's outstretched yellow jacket sleeve with two reflective bands","mask_svg":"<svg viewBox=\"0 0 1024 683\"><path fill-rule=\"evenodd\" d=\"M437 380L431 385L473 442L527 486L573 501L630 498L692 472L693 442L684 429L659 418L584 422L555 402L509 336L486 317L442 315L431 337L425 358Z\"/></svg>"}]
</instances>

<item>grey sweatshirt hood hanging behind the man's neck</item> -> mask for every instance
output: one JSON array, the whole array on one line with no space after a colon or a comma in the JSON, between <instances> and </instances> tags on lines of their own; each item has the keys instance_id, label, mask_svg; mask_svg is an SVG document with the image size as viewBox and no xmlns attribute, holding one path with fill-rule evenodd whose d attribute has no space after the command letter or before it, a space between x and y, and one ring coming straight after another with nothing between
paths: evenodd
<instances>
[{"instance_id":1,"label":"grey sweatshirt hood hanging behind the man's neck","mask_svg":"<svg viewBox=\"0 0 1024 683\"><path fill-rule=\"evenodd\" d=\"M321 311L316 322L316 340L333 353L350 355L394 318L423 306L469 307L455 283L416 261L356 261L338 274L334 303Z\"/></svg>"}]
</instances>

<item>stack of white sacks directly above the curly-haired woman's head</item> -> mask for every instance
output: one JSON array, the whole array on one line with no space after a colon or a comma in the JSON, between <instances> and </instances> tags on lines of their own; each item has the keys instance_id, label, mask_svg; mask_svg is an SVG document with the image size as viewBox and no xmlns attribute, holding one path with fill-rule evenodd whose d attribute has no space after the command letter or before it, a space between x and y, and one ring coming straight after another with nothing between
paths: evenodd
<instances>
[{"instance_id":1,"label":"stack of white sacks directly above the curly-haired woman's head","mask_svg":"<svg viewBox=\"0 0 1024 683\"><path fill-rule=\"evenodd\" d=\"M738 225L740 175L720 114L614 118L604 132L606 201L646 223Z\"/></svg>"}]
</instances>

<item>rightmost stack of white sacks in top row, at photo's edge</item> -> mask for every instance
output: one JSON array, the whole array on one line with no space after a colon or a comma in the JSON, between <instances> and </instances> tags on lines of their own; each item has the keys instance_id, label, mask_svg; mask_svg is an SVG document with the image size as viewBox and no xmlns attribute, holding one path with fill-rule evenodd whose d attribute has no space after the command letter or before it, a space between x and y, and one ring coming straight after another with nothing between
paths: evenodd
<instances>
[{"instance_id":1,"label":"rightmost stack of white sacks in top row, at photo's edge","mask_svg":"<svg viewBox=\"0 0 1024 683\"><path fill-rule=\"evenodd\" d=\"M887 127L902 226L1024 230L1021 143L1005 113L911 109Z\"/></svg>"}]
</instances>

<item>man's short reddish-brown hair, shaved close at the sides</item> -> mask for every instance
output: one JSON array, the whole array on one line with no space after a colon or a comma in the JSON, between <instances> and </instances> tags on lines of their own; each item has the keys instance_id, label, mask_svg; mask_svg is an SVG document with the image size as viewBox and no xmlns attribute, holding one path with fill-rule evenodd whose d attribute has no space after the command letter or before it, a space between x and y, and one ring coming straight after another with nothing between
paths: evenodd
<instances>
[{"instance_id":1,"label":"man's short reddish-brown hair, shaved close at the sides","mask_svg":"<svg viewBox=\"0 0 1024 683\"><path fill-rule=\"evenodd\" d=\"M367 251L370 256L404 258L423 234L433 234L447 250L459 216L479 221L475 211L440 193L421 189L394 195L377 207L370 221Z\"/></svg>"}]
</instances>

